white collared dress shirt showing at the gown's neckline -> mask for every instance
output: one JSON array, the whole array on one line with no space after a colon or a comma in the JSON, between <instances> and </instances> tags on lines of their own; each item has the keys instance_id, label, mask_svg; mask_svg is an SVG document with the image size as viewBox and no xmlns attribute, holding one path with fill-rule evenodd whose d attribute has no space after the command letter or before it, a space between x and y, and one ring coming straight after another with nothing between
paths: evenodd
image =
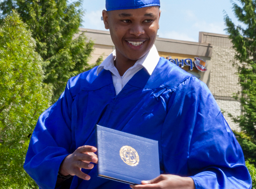
<instances>
[{"instance_id":1,"label":"white collared dress shirt showing at the gown's neckline","mask_svg":"<svg viewBox=\"0 0 256 189\"><path fill-rule=\"evenodd\" d=\"M113 84L116 95L122 90L122 88L128 83L128 81L143 67L147 70L149 75L152 74L153 70L158 64L160 56L155 45L151 50L142 58L137 60L134 66L130 67L124 75L121 77L118 70L114 66L115 50L98 66L97 75L103 70L109 70L112 73Z\"/></svg>"}]
</instances>

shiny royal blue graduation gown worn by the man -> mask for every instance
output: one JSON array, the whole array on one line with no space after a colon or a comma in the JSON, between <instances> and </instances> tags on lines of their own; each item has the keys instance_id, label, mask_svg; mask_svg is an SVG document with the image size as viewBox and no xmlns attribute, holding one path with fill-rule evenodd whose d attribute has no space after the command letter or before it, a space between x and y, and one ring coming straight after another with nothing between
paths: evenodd
<instances>
[{"instance_id":1,"label":"shiny royal blue graduation gown worn by the man","mask_svg":"<svg viewBox=\"0 0 256 189\"><path fill-rule=\"evenodd\" d=\"M151 76L138 71L115 95L111 72L96 70L70 78L39 117L24 169L41 189L55 187L68 154L95 146L96 124L158 140L161 173L191 176L196 189L251 187L241 147L203 82L160 58ZM74 176L70 189L129 188L98 177L97 165L83 172L90 181Z\"/></svg>"}]
</instances>

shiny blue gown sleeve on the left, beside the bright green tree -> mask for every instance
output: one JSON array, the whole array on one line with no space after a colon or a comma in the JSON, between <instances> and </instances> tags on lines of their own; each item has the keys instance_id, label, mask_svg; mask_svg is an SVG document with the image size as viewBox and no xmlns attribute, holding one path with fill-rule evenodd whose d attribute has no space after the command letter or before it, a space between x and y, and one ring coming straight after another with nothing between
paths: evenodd
<instances>
[{"instance_id":1,"label":"shiny blue gown sleeve on the left, beside the bright green tree","mask_svg":"<svg viewBox=\"0 0 256 189\"><path fill-rule=\"evenodd\" d=\"M32 133L24 169L40 189L54 189L60 164L72 144L69 81L59 100L38 119Z\"/></svg>"}]
</instances>

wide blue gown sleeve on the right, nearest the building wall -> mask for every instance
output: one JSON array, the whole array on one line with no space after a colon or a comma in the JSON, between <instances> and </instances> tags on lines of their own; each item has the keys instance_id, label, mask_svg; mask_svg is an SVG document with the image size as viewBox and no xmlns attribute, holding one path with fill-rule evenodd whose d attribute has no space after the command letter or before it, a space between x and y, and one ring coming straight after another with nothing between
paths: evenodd
<instances>
[{"instance_id":1,"label":"wide blue gown sleeve on the right, nearest the building wall","mask_svg":"<svg viewBox=\"0 0 256 189\"><path fill-rule=\"evenodd\" d=\"M166 173L191 176L196 189L250 189L242 149L203 82L183 81L168 102L161 146Z\"/></svg>"}]
</instances>

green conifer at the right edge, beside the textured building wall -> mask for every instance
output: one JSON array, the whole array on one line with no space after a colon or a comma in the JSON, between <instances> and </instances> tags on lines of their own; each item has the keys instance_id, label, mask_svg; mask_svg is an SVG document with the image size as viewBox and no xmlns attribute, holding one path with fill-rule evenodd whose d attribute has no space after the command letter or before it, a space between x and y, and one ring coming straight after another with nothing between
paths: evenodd
<instances>
[{"instance_id":1,"label":"green conifer at the right edge, beside the textured building wall","mask_svg":"<svg viewBox=\"0 0 256 189\"><path fill-rule=\"evenodd\" d=\"M256 0L238 0L241 4L233 4L233 13L243 24L235 25L225 16L226 32L233 43L236 54L236 66L238 68L239 83L242 91L234 98L240 99L242 115L233 117L239 124L242 132L235 132L241 144L248 168L253 178L253 187L256 188Z\"/></svg>"}]
</instances>

